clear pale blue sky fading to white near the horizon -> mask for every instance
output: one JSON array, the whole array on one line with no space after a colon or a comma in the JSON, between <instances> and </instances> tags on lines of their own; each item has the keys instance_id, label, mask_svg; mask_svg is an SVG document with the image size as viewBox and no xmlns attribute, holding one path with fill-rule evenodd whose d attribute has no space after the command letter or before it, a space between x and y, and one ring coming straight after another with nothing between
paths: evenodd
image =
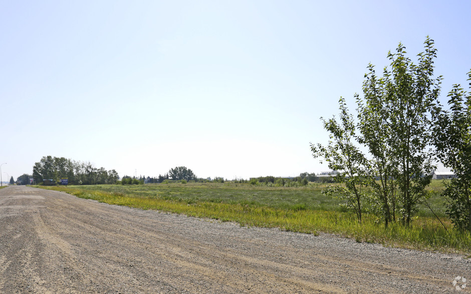
<instances>
[{"instance_id":1,"label":"clear pale blue sky fading to white near the horizon","mask_svg":"<svg viewBox=\"0 0 471 294\"><path fill-rule=\"evenodd\" d=\"M355 109L366 66L438 48L442 101L471 69L471 1L0 0L0 163L120 176L328 170L320 117ZM6 173L2 176L7 176Z\"/></svg>"}]
</instances>

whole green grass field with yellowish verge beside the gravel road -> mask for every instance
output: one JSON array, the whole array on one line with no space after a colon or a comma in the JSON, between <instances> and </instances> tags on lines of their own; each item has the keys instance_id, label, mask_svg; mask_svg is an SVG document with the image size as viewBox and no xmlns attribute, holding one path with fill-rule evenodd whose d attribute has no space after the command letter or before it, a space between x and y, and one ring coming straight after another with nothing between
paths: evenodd
<instances>
[{"instance_id":1,"label":"whole green grass field with yellowish verge beside the gravel road","mask_svg":"<svg viewBox=\"0 0 471 294\"><path fill-rule=\"evenodd\" d=\"M410 227L391 224L385 228L373 215L365 215L359 225L354 214L342 210L340 200L321 193L323 187L316 183L306 187L269 187L226 182L47 188L110 204L236 221L246 226L315 234L322 231L359 242L471 254L471 234L453 228L445 217L439 192L429 203L446 229L424 205L419 207ZM433 182L431 188L440 190L441 182Z\"/></svg>"}]
</instances>

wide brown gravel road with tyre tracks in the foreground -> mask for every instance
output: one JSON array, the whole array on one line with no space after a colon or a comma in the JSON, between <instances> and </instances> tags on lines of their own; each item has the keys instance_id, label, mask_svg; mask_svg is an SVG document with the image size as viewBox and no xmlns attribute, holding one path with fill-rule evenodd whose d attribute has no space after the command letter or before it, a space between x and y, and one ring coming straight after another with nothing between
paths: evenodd
<instances>
[{"instance_id":1,"label":"wide brown gravel road with tyre tracks in the foreground","mask_svg":"<svg viewBox=\"0 0 471 294\"><path fill-rule=\"evenodd\" d=\"M469 292L456 276L471 260L0 190L0 293Z\"/></svg>"}]
</instances>

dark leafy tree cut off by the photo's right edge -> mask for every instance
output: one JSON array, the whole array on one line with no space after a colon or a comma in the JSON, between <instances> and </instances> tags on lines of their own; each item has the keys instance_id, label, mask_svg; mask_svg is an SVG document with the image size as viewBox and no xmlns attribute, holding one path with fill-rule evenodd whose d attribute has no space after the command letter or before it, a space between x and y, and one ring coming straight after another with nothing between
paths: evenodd
<instances>
[{"instance_id":1,"label":"dark leafy tree cut off by the photo's right edge","mask_svg":"<svg viewBox=\"0 0 471 294\"><path fill-rule=\"evenodd\" d=\"M471 92L455 84L448 97L450 110L436 107L433 137L438 158L456 177L445 182L442 195L450 199L446 213L452 222L471 231Z\"/></svg>"}]
</instances>

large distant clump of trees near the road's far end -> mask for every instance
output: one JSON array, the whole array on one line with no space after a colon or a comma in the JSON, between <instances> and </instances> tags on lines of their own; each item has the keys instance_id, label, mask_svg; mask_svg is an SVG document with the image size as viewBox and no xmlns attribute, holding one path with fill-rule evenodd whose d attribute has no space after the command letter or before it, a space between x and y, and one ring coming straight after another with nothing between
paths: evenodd
<instances>
[{"instance_id":1,"label":"large distant clump of trees near the road's far end","mask_svg":"<svg viewBox=\"0 0 471 294\"><path fill-rule=\"evenodd\" d=\"M96 168L90 161L75 161L65 157L43 156L33 166L36 184L45 180L59 183L62 177L67 177L69 184L113 184L119 179L114 169Z\"/></svg>"}]
</instances>

